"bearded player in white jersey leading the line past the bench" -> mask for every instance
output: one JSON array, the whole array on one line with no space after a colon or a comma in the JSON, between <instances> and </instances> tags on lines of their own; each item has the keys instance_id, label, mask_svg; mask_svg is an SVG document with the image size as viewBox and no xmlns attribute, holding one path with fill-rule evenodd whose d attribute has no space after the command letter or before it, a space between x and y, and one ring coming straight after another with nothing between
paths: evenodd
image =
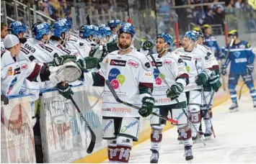
<instances>
[{"instance_id":1,"label":"bearded player in white jersey leading the line past the bench","mask_svg":"<svg viewBox=\"0 0 256 164\"><path fill-rule=\"evenodd\" d=\"M93 86L105 86L111 82L120 99L141 106L138 111L115 101L105 86L102 103L102 132L107 140L107 155L110 163L128 163L133 141L138 141L140 115L147 117L154 107L153 74L145 55L131 48L136 29L124 23L118 31L120 50L109 53L98 72L84 73L84 79Z\"/></svg>"}]
</instances>

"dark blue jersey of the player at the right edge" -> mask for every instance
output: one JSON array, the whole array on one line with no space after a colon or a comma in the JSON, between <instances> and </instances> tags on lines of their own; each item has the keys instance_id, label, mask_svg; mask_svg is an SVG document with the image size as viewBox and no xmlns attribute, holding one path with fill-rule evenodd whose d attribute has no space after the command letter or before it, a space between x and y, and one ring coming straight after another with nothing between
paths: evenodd
<instances>
[{"instance_id":1,"label":"dark blue jersey of the player at the right edge","mask_svg":"<svg viewBox=\"0 0 256 164\"><path fill-rule=\"evenodd\" d=\"M226 45L225 52L229 50L229 45ZM224 65L230 65L230 73L246 75L247 64L252 64L255 60L255 54L252 52L252 47L248 42L241 40L237 45L233 44L230 48L229 57L226 59Z\"/></svg>"}]
</instances>

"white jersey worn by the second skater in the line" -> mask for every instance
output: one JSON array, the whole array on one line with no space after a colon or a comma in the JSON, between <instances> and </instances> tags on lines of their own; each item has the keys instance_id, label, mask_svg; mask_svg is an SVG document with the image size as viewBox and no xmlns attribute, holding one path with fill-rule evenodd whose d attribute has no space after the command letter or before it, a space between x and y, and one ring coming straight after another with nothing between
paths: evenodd
<instances>
[{"instance_id":1,"label":"white jersey worn by the second skater in the line","mask_svg":"<svg viewBox=\"0 0 256 164\"><path fill-rule=\"evenodd\" d=\"M155 106L169 105L169 104L177 104L177 101L171 100L167 98L166 91L168 89L167 84L164 82L167 81L169 87L172 86L176 81L182 83L182 85L187 86L189 82L187 70L185 69L185 63L179 55L174 53L167 53L166 55L159 58L158 54L153 54L154 59L156 60L156 65L159 68L159 71L155 67L154 61L149 56L149 60L154 68L154 89L152 96L156 100ZM185 93L180 94L178 100L186 101Z\"/></svg>"}]
</instances>

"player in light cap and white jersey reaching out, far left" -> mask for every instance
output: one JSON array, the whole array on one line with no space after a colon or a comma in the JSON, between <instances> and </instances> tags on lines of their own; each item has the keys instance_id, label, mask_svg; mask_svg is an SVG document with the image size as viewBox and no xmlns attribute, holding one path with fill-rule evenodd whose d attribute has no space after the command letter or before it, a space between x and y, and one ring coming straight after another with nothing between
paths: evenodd
<instances>
[{"instance_id":1,"label":"player in light cap and white jersey reaching out, far left","mask_svg":"<svg viewBox=\"0 0 256 164\"><path fill-rule=\"evenodd\" d=\"M57 71L62 68L61 65L56 68L49 68L45 63L30 62L25 55L20 54L20 46L17 36L6 35L4 39L5 50L1 52L1 94L8 96L19 95L25 79L37 82L50 80L52 83L61 83L61 81L66 80L65 74L61 74L65 70ZM75 65L74 68L78 67ZM56 76L61 81L56 81ZM62 92L70 91L70 88L67 88L66 91Z\"/></svg>"}]
</instances>

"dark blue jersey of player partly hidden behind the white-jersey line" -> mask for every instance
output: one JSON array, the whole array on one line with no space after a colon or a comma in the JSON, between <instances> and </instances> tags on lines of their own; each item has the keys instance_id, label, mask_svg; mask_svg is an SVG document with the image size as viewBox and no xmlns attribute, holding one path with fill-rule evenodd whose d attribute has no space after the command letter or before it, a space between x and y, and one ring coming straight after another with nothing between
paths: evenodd
<instances>
[{"instance_id":1,"label":"dark blue jersey of player partly hidden behind the white-jersey line","mask_svg":"<svg viewBox=\"0 0 256 164\"><path fill-rule=\"evenodd\" d=\"M216 37L213 35L205 36L205 45L211 48L211 51L214 53L215 58L218 60L220 57L220 48Z\"/></svg>"}]
</instances>

